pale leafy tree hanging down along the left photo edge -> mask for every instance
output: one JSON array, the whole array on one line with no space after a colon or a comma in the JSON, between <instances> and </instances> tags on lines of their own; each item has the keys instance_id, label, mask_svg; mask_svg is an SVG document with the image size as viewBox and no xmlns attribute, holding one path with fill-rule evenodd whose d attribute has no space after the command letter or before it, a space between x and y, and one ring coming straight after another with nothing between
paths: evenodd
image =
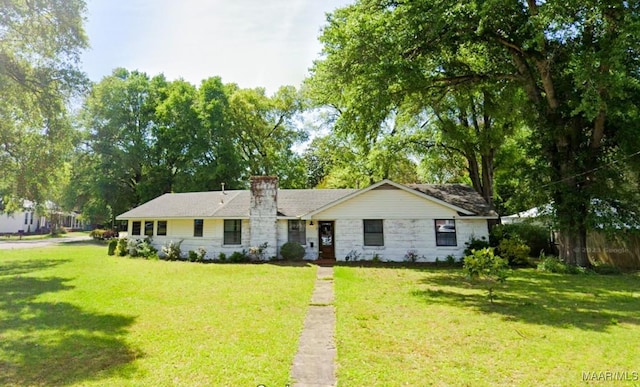
<instances>
[{"instance_id":1,"label":"pale leafy tree hanging down along the left photo edge","mask_svg":"<svg viewBox=\"0 0 640 387\"><path fill-rule=\"evenodd\" d=\"M85 83L82 0L0 7L0 198L42 203L59 180L73 130L67 102Z\"/></svg>"}]
</instances>

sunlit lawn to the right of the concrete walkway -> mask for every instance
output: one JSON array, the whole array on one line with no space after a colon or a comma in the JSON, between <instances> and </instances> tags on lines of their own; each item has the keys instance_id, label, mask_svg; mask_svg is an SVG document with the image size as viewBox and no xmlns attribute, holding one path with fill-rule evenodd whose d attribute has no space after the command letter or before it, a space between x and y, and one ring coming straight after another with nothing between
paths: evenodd
<instances>
[{"instance_id":1,"label":"sunlit lawn to the right of the concrete walkway","mask_svg":"<svg viewBox=\"0 0 640 387\"><path fill-rule=\"evenodd\" d=\"M640 372L637 274L517 270L493 305L459 269L336 267L335 289L340 385L570 386L582 372Z\"/></svg>"}]
</instances>

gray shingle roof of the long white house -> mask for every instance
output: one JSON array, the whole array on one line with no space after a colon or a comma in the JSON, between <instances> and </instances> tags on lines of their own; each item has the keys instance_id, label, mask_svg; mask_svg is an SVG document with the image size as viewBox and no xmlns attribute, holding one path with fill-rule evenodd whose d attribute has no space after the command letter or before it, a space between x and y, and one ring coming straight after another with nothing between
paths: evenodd
<instances>
[{"instance_id":1,"label":"gray shingle roof of the long white house","mask_svg":"<svg viewBox=\"0 0 640 387\"><path fill-rule=\"evenodd\" d=\"M482 196L461 184L411 184L409 189L445 201L477 216L497 216ZM279 189L278 216L300 217L327 206L355 189ZM164 194L118 219L145 218L248 218L250 191L211 191Z\"/></svg>"}]
</instances>

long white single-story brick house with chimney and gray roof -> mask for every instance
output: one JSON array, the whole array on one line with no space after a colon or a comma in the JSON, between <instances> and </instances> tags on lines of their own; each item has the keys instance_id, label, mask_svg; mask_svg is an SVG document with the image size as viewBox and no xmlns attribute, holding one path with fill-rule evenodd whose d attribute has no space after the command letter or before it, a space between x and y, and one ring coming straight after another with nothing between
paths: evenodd
<instances>
[{"instance_id":1,"label":"long white single-story brick house with chimney and gray roof","mask_svg":"<svg viewBox=\"0 0 640 387\"><path fill-rule=\"evenodd\" d=\"M207 258L267 243L266 257L288 241L305 259L402 261L408 251L427 261L461 257L471 237L488 237L498 215L460 184L402 185L384 180L361 190L278 189L271 176L251 178L250 190L171 193L117 217L131 238L152 237L160 248L182 241Z\"/></svg>"}]
</instances>

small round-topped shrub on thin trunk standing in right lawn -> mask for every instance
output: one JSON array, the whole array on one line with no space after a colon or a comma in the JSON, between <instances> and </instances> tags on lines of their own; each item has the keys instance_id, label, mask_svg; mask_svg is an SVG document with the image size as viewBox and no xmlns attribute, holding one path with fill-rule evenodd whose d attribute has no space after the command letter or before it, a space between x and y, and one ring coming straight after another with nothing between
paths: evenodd
<instances>
[{"instance_id":1,"label":"small round-topped shrub on thin trunk standing in right lawn","mask_svg":"<svg viewBox=\"0 0 640 387\"><path fill-rule=\"evenodd\" d=\"M469 278L485 282L491 303L495 297L495 284L507 280L508 268L507 260L495 255L491 247L472 250L470 255L464 257L464 271Z\"/></svg>"}]
</instances>

